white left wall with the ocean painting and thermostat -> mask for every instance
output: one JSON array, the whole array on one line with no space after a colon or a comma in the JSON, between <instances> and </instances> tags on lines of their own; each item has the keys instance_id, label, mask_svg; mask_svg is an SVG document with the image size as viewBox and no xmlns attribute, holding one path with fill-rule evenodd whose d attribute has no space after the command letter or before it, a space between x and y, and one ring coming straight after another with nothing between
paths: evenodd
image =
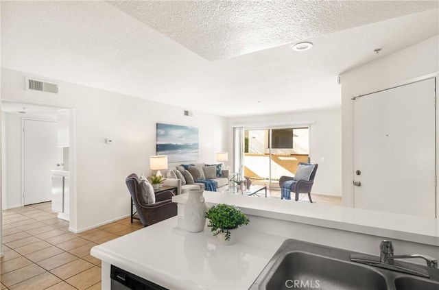
<instances>
[{"instance_id":1,"label":"white left wall with the ocean painting and thermostat","mask_svg":"<svg viewBox=\"0 0 439 290\"><path fill-rule=\"evenodd\" d=\"M71 230L81 231L130 213L125 178L149 173L149 156L156 154L156 123L190 125L199 129L199 160L214 162L227 143L227 120L201 112L185 117L183 108L146 101L78 84L60 82L60 95L25 90L25 73L2 69L2 98L43 106L75 108L76 156L71 176ZM181 97L185 97L184 95ZM108 145L105 138L112 138ZM71 165L72 165L72 160ZM73 180L72 180L73 181Z\"/></svg>"}]
</instances>

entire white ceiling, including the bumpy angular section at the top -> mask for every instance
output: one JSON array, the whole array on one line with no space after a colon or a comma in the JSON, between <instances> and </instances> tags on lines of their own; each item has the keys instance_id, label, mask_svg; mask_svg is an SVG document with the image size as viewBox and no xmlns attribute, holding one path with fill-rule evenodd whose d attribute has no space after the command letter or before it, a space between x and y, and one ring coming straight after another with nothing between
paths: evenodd
<instances>
[{"instance_id":1,"label":"entire white ceiling, including the bumpy angular section at the top","mask_svg":"<svg viewBox=\"0 0 439 290\"><path fill-rule=\"evenodd\" d=\"M1 64L228 117L340 108L337 75L436 36L438 3L1 1Z\"/></svg>"}]
</instances>

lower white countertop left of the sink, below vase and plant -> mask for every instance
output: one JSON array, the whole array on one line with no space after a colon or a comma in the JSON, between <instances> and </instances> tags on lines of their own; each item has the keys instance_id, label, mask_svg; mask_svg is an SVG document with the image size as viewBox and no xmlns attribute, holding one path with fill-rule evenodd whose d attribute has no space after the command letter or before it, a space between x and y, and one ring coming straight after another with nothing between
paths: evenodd
<instances>
[{"instance_id":1,"label":"lower white countertop left of the sink, below vase and plant","mask_svg":"<svg viewBox=\"0 0 439 290\"><path fill-rule=\"evenodd\" d=\"M209 228L178 228L178 218L95 246L91 254L167 289L248 289L286 239L257 230L254 217L239 228L235 245L222 245Z\"/></svg>"}]
</instances>

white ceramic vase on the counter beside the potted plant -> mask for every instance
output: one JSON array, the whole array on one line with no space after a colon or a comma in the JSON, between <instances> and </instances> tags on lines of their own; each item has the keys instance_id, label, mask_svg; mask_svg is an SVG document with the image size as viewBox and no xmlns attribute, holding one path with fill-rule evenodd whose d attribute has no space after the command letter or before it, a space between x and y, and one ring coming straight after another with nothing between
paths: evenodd
<instances>
[{"instance_id":1,"label":"white ceramic vase on the counter beside the potted plant","mask_svg":"<svg viewBox=\"0 0 439 290\"><path fill-rule=\"evenodd\" d=\"M207 204L202 189L191 189L185 204L185 223L188 232L201 232L206 226Z\"/></svg>"}]
</instances>

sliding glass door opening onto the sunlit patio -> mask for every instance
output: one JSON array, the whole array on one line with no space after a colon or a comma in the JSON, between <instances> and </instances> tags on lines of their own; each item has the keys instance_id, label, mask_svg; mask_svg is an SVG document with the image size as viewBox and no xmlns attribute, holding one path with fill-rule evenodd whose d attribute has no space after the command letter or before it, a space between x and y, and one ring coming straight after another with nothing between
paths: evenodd
<instances>
[{"instance_id":1,"label":"sliding glass door opening onto the sunlit patio","mask_svg":"<svg viewBox=\"0 0 439 290\"><path fill-rule=\"evenodd\" d=\"M281 176L294 176L298 162L309 160L308 127L243 132L242 165L244 176L249 177L252 184L265 184L270 189L279 189Z\"/></svg>"}]
</instances>

